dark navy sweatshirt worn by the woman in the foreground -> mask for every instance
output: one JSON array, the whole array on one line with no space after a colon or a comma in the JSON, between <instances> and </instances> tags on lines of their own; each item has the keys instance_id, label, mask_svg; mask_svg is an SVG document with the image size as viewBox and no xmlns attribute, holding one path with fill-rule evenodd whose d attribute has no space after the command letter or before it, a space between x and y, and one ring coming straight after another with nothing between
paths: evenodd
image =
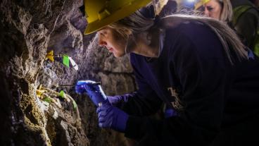
<instances>
[{"instance_id":1,"label":"dark navy sweatshirt worn by the woman in the foreground","mask_svg":"<svg viewBox=\"0 0 259 146\"><path fill-rule=\"evenodd\" d=\"M130 114L125 136L139 145L208 145L224 129L259 115L258 58L238 61L232 52L230 63L206 25L165 30L156 59L130 57L139 90L123 97L121 109ZM178 115L149 118L162 102Z\"/></svg>"}]
</instances>

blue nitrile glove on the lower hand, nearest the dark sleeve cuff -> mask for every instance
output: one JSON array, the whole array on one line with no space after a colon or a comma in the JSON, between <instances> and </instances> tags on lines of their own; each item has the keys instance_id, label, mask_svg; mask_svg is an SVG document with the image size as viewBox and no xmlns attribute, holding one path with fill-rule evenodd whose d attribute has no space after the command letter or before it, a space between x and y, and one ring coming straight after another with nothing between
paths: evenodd
<instances>
[{"instance_id":1,"label":"blue nitrile glove on the lower hand, nearest the dark sleeve cuff","mask_svg":"<svg viewBox=\"0 0 259 146\"><path fill-rule=\"evenodd\" d=\"M113 107L108 100L104 101L101 107L96 110L99 119L99 127L112 128L119 132L124 132L127 119L129 118L121 109Z\"/></svg>"}]
</instances>

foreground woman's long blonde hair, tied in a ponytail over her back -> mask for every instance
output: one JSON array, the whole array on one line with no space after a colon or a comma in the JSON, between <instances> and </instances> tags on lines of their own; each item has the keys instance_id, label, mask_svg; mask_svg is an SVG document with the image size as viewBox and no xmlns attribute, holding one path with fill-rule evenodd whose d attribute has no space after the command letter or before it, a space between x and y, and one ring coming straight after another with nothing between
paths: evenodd
<instances>
[{"instance_id":1,"label":"foreground woman's long blonde hair, tied in a ponytail over her back","mask_svg":"<svg viewBox=\"0 0 259 146\"><path fill-rule=\"evenodd\" d=\"M113 28L116 32L118 32L118 34L127 40L129 37L134 37L141 32L151 32L153 29L159 30L175 27L180 23L187 21L198 21L204 25L208 25L208 27L211 28L211 30L213 30L220 39L220 42L222 43L231 63L233 62L230 51L234 51L238 59L248 58L247 52L244 49L244 44L242 44L234 30L229 28L226 23L204 16L173 14L160 18L159 22L155 23L153 18L146 18L139 11L136 11L132 15L108 25L108 27Z\"/></svg>"}]
</instances>

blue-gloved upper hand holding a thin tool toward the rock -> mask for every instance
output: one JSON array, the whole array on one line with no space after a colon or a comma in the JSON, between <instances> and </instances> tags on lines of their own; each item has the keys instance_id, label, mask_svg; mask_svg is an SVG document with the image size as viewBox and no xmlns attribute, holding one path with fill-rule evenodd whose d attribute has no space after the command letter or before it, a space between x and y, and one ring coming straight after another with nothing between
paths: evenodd
<instances>
[{"instance_id":1,"label":"blue-gloved upper hand holding a thin tool toward the rock","mask_svg":"<svg viewBox=\"0 0 259 146\"><path fill-rule=\"evenodd\" d=\"M77 81L77 85L75 85L75 92L79 94L87 92L91 101L93 101L96 106L99 106L99 103L102 103L107 97L101 89L101 85L93 85L93 83L96 82L92 80L79 80Z\"/></svg>"}]
</instances>

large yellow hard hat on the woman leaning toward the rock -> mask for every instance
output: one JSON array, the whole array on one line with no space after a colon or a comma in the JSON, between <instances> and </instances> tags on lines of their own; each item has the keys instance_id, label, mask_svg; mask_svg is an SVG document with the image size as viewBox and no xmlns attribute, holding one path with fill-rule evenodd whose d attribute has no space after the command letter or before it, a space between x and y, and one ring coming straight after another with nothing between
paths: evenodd
<instances>
[{"instance_id":1,"label":"large yellow hard hat on the woman leaning toward the rock","mask_svg":"<svg viewBox=\"0 0 259 146\"><path fill-rule=\"evenodd\" d=\"M130 16L152 0L84 0L87 29L84 35L96 32L117 20Z\"/></svg>"}]
</instances>

